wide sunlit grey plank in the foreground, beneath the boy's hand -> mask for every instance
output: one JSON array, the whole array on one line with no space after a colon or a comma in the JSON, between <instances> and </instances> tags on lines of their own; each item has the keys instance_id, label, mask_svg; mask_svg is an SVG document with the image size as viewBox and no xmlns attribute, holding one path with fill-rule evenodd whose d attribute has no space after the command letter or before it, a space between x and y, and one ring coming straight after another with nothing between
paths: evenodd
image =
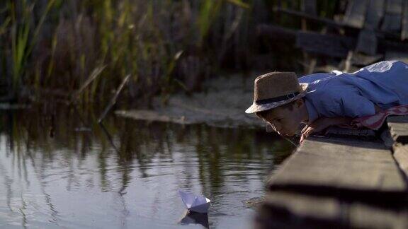
<instances>
[{"instance_id":1,"label":"wide sunlit grey plank in the foreground, beneath the boy's hand","mask_svg":"<svg viewBox=\"0 0 408 229\"><path fill-rule=\"evenodd\" d=\"M387 193L394 201L407 191L391 151L382 142L353 139L307 139L268 180L268 187L361 199Z\"/></svg>"}]
</instances>

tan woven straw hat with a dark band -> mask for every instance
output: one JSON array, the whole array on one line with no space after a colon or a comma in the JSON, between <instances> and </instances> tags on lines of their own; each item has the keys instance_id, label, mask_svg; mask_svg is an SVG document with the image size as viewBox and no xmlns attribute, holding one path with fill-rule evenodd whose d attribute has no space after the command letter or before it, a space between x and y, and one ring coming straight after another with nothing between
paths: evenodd
<instances>
[{"instance_id":1,"label":"tan woven straw hat with a dark band","mask_svg":"<svg viewBox=\"0 0 408 229\"><path fill-rule=\"evenodd\" d=\"M284 105L306 94L307 83L299 83L293 72L271 72L255 79L254 103L246 113L261 112Z\"/></svg>"}]
</instances>

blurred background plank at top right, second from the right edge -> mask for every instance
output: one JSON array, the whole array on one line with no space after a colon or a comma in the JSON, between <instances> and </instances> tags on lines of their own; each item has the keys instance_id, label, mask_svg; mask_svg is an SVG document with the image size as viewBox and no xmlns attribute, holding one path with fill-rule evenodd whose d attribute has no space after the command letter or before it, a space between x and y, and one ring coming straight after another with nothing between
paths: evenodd
<instances>
[{"instance_id":1,"label":"blurred background plank at top right, second from the right edge","mask_svg":"<svg viewBox=\"0 0 408 229\"><path fill-rule=\"evenodd\" d=\"M381 30L388 33L399 33L402 21L402 0L387 0L385 16Z\"/></svg>"}]
</instances>

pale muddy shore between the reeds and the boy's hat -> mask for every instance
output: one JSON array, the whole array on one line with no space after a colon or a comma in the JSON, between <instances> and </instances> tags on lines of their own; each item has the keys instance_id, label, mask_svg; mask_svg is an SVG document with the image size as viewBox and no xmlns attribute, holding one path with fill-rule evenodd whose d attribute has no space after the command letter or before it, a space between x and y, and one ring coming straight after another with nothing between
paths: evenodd
<instances>
[{"instance_id":1,"label":"pale muddy shore between the reeds and the boy's hat","mask_svg":"<svg viewBox=\"0 0 408 229\"><path fill-rule=\"evenodd\" d=\"M186 95L177 93L164 104L154 98L151 110L118 110L115 114L151 122L178 124L208 124L213 127L264 128L265 124L245 110L252 103L254 78L251 76L227 76L205 81L205 90Z\"/></svg>"}]
</instances>

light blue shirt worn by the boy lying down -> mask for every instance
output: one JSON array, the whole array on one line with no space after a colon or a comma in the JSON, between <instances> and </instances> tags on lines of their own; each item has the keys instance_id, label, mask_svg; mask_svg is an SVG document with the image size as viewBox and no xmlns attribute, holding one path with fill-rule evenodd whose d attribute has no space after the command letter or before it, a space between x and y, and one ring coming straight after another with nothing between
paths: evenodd
<instances>
[{"instance_id":1,"label":"light blue shirt worn by the boy lying down","mask_svg":"<svg viewBox=\"0 0 408 229\"><path fill-rule=\"evenodd\" d=\"M374 105L387 109L408 104L408 65L402 61L381 61L352 74L311 74L299 82L309 83L305 95L309 122L372 115Z\"/></svg>"}]
</instances>

